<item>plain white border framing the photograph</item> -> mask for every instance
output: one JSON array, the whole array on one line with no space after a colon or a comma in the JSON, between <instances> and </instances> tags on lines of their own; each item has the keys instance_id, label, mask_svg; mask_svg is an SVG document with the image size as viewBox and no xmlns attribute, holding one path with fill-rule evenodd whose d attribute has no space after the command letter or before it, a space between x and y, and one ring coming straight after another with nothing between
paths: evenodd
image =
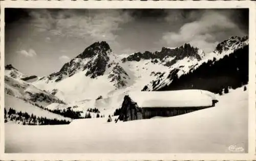
<instances>
[{"instance_id":1,"label":"plain white border framing the photograph","mask_svg":"<svg viewBox=\"0 0 256 161\"><path fill-rule=\"evenodd\" d=\"M1 1L1 160L251 160L255 155L255 3L251 1ZM5 153L4 130L4 68L5 68L5 8L165 8L165 9L249 9L249 82L248 82L248 153ZM230 134L232 135L232 134Z\"/></svg>"}]
</instances>

